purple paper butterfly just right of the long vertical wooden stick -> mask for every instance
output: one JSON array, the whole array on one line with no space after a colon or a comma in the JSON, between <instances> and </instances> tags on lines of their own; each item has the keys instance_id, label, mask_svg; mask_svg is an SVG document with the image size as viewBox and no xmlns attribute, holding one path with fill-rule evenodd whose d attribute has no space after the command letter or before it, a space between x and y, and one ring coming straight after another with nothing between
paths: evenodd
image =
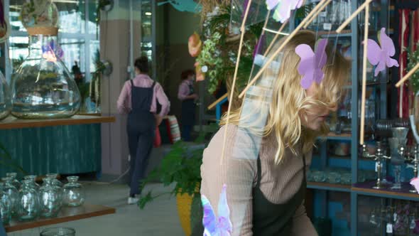
<instances>
[{"instance_id":1,"label":"purple paper butterfly just right of the long vertical wooden stick","mask_svg":"<svg viewBox=\"0 0 419 236\"><path fill-rule=\"evenodd\" d=\"M391 58L396 53L396 48L394 48L394 43L390 37L386 35L386 28L381 28L381 33L379 36L379 41L381 48L376 41L369 39L366 47L366 57L369 60L371 65L377 65L374 76L379 75L379 72L386 70L386 65L388 68L393 66L398 67L397 60Z\"/></svg>"}]
</instances>

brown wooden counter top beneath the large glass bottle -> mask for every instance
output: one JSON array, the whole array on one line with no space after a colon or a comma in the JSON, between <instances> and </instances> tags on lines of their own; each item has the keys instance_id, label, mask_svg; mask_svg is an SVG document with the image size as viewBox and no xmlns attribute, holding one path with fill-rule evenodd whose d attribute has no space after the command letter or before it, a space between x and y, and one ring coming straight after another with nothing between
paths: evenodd
<instances>
[{"instance_id":1,"label":"brown wooden counter top beneath the large glass bottle","mask_svg":"<svg viewBox=\"0 0 419 236\"><path fill-rule=\"evenodd\" d=\"M58 125L97 124L109 122L115 122L115 117L75 115L64 119L17 119L16 117L9 116L0 122L0 129L53 127Z\"/></svg>"}]
</instances>

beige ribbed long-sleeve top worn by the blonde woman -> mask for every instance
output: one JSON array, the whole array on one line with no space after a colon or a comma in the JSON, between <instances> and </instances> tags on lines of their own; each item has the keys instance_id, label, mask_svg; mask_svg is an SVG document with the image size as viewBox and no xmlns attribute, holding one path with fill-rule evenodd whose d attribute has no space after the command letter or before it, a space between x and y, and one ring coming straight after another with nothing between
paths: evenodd
<instances>
[{"instance_id":1,"label":"beige ribbed long-sleeve top worn by the blonde woman","mask_svg":"<svg viewBox=\"0 0 419 236\"><path fill-rule=\"evenodd\" d=\"M224 129L227 129L227 146L222 159ZM273 136L258 141L243 129L228 125L219 129L205 149L201 166L200 192L209 199L217 213L219 194L223 184L227 185L227 203L233 225L232 235L253 235L252 188L257 183L258 154L261 159L259 188L267 200L274 204L285 203L300 188L305 171L300 148L296 150L297 154L287 150L285 159L276 165L274 156L277 146ZM305 168L308 168L311 154L305 155L305 162ZM303 204L293 216L293 235L317 235Z\"/></svg>"}]
</instances>

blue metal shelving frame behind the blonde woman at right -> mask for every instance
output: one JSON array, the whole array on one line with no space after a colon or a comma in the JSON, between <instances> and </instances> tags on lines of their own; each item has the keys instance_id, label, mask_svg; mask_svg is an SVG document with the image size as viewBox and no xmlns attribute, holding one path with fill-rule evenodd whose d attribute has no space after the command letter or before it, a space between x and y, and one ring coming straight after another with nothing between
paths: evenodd
<instances>
[{"instance_id":1,"label":"blue metal shelving frame behind the blonde woman at right","mask_svg":"<svg viewBox=\"0 0 419 236\"><path fill-rule=\"evenodd\" d=\"M389 8L389 1L390 0L381 0L381 25L388 26L388 9ZM357 9L359 4L362 4L363 0L352 0L352 12ZM419 5L419 4L418 4ZM419 6L418 6L419 7ZM394 9L394 8L392 8ZM351 30L345 31L339 37L351 37L352 42L352 58L360 58L359 57L359 45L361 41L361 37L364 35L363 32L359 31L358 25L358 18L354 18L351 24ZM396 27L396 26L393 26ZM388 28L388 27L386 27ZM390 34L393 34L390 31ZM333 33L325 33L321 37L336 37L337 35ZM396 41L397 35L394 35L393 40ZM397 57L397 55L396 55ZM352 84L348 85L347 88L350 88L352 91L352 133L351 134L341 134L341 135L333 135L330 134L327 136L328 140L350 140L351 141L351 170L352 170L352 186L344 186L339 184L331 184L331 183L313 183L308 182L308 188L320 191L318 194L323 201L323 205L327 205L327 198L326 198L326 191L337 191L337 192L346 192L350 194L350 202L351 202L351 222L350 222L350 229L351 235L358 235L358 198L361 195L372 196L377 198L391 198L391 199L399 199L399 200L412 200L412 201L419 201L419 194L418 193L409 193L408 192L408 183L404 183L403 191L391 191L388 189L376 190L372 188L374 186L374 182L371 183L357 183L358 179L358 171L359 171L359 161L366 161L365 159L360 159L358 156L358 149L359 149L359 120L357 119L358 115L358 98L360 92L359 86L359 60L352 60ZM383 76L384 75L384 76ZM371 84L372 85L372 84ZM370 86L371 86L370 85ZM379 82L375 82L374 89L380 90L380 97L379 101L379 119L386 119L387 118L387 92L386 88L388 85L388 71L381 74ZM319 156L319 155L317 155ZM313 156L315 158L315 156ZM327 165L327 159L334 158L334 156L328 156L326 150L326 144L321 144L320 146L320 163L322 168ZM347 157L346 159L349 159ZM349 166L348 166L349 167ZM323 210L323 213L327 212L327 210Z\"/></svg>"}]
</instances>

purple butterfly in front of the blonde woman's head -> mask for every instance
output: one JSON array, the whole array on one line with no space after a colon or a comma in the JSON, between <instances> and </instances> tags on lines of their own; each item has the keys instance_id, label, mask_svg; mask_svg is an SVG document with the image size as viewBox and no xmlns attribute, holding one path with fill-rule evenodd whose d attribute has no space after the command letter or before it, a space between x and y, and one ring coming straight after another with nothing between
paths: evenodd
<instances>
[{"instance_id":1,"label":"purple butterfly in front of the blonde woman's head","mask_svg":"<svg viewBox=\"0 0 419 236\"><path fill-rule=\"evenodd\" d=\"M295 53L301 58L298 73L303 76L300 84L305 90L310 87L312 82L320 84L325 77L322 69L327 62L326 46L327 39L323 38L317 43L315 52L307 44L300 44L295 48Z\"/></svg>"}]
</instances>

